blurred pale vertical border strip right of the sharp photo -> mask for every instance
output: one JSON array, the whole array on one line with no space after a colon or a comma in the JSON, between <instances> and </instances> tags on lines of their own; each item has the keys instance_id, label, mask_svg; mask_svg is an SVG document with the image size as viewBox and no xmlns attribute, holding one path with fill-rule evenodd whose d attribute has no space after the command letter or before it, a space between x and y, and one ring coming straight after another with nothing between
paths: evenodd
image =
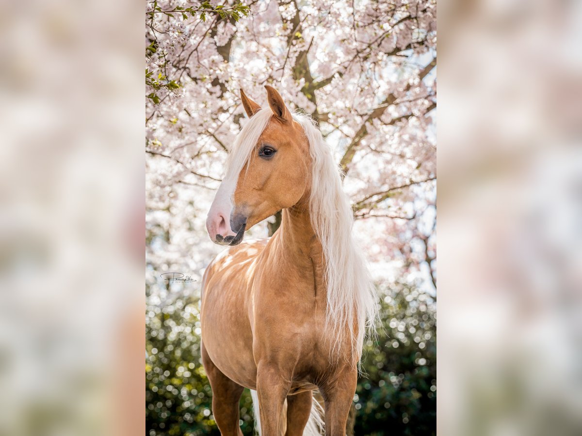
<instances>
[{"instance_id":1,"label":"blurred pale vertical border strip right of the sharp photo","mask_svg":"<svg viewBox=\"0 0 582 436\"><path fill-rule=\"evenodd\" d=\"M439 3L438 433L582 434L582 3Z\"/></svg>"}]
</instances>

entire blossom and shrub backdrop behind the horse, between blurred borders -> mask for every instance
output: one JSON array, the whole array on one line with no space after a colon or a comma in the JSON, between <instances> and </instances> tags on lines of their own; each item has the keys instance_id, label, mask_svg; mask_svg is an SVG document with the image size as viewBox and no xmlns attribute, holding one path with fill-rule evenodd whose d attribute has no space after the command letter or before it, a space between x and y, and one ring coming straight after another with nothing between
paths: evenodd
<instances>
[{"instance_id":1,"label":"entire blossom and shrub backdrop behind the horse, between blurred borders","mask_svg":"<svg viewBox=\"0 0 582 436\"><path fill-rule=\"evenodd\" d=\"M217 6L221 5L221 6ZM223 6L222 6L223 5ZM223 248L205 217L265 84L318 121L345 175L381 296L348 434L436 431L434 1L148 3L147 359L150 436L219 434L200 361L200 282ZM246 237L267 237L280 214ZM168 283L179 272L195 283ZM253 434L249 393L244 434Z\"/></svg>"}]
</instances>

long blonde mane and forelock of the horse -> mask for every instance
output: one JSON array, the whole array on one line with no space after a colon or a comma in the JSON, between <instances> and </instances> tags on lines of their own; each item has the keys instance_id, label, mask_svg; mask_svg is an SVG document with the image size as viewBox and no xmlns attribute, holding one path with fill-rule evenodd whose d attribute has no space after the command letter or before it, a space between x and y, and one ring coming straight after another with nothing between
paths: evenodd
<instances>
[{"instance_id":1,"label":"long blonde mane and forelock of the horse","mask_svg":"<svg viewBox=\"0 0 582 436\"><path fill-rule=\"evenodd\" d=\"M240 171L253 156L253 149L265 130L272 111L259 110L244 126L229 153L225 181L236 183ZM312 162L310 216L324 253L327 284L327 328L336 338L332 348L346 335L359 358L367 332L374 333L377 297L359 247L352 236L354 223L349 198L343 192L340 169L333 162L317 124L310 116L294 113L307 137ZM224 182L223 182L224 183ZM353 321L357 328L353 329ZM347 327L346 327L347 326Z\"/></svg>"}]
</instances>

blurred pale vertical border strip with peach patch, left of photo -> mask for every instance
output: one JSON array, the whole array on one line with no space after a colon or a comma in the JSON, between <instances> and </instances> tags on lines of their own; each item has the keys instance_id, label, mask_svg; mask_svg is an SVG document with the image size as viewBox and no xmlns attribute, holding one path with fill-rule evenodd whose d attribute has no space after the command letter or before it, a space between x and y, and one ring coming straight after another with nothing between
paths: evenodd
<instances>
[{"instance_id":1,"label":"blurred pale vertical border strip with peach patch, left of photo","mask_svg":"<svg viewBox=\"0 0 582 436\"><path fill-rule=\"evenodd\" d=\"M0 434L143 435L143 7L0 29Z\"/></svg>"}]
</instances>

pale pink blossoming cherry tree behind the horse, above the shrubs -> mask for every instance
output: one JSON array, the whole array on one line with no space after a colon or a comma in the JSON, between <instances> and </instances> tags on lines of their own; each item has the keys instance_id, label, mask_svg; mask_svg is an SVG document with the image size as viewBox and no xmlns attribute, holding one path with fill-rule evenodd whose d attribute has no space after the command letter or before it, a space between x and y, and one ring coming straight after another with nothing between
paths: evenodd
<instances>
[{"instance_id":1,"label":"pale pink blossoming cherry tree behind the horse, above the shrubs","mask_svg":"<svg viewBox=\"0 0 582 436\"><path fill-rule=\"evenodd\" d=\"M239 88L265 105L265 84L318 121L375 280L435 298L435 3L147 3L148 304L191 298L199 286L176 291L159 275L200 281L221 251L205 216L247 121ZM272 234L277 219L249 233Z\"/></svg>"}]
</instances>

